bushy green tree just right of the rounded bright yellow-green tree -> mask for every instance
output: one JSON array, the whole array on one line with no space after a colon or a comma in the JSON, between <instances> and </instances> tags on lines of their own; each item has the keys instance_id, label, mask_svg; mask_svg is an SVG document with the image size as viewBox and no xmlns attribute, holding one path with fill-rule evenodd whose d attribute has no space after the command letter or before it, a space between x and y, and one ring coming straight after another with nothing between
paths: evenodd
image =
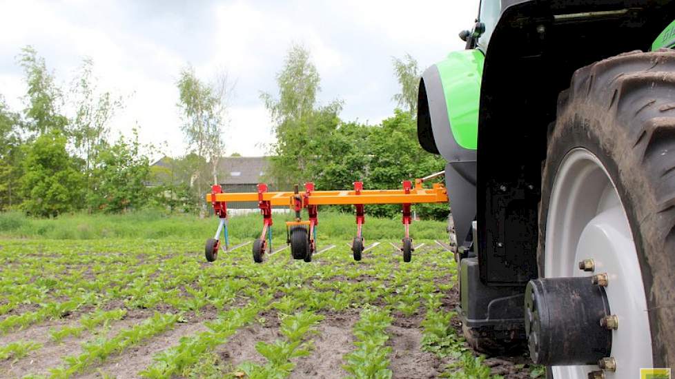
<instances>
[{"instance_id":1,"label":"bushy green tree just right of the rounded bright yellow-green tree","mask_svg":"<svg viewBox=\"0 0 675 379\"><path fill-rule=\"evenodd\" d=\"M99 161L92 172L97 183L90 195L92 207L103 212L119 213L140 209L148 203L146 187L150 179L148 157L141 154L137 131L133 139L119 139L101 149Z\"/></svg>"}]
</instances>

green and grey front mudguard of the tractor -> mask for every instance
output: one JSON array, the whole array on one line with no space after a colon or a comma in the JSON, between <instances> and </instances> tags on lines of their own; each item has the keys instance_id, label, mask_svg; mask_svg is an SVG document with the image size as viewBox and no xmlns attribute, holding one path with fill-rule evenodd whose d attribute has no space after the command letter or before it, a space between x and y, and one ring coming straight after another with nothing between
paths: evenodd
<instances>
[{"instance_id":1,"label":"green and grey front mudguard of the tractor","mask_svg":"<svg viewBox=\"0 0 675 379\"><path fill-rule=\"evenodd\" d=\"M424 150L441 154L458 243L464 242L476 216L476 145L480 50L451 52L424 71L418 99L418 139Z\"/></svg>"}]
</instances>

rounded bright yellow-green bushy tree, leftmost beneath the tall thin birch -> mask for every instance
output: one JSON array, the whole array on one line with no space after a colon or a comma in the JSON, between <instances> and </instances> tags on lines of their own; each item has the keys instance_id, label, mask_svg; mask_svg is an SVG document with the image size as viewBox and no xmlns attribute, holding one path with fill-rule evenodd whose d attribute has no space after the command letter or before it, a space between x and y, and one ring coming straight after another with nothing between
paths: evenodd
<instances>
[{"instance_id":1,"label":"rounded bright yellow-green bushy tree, leftmost beneath the tall thin birch","mask_svg":"<svg viewBox=\"0 0 675 379\"><path fill-rule=\"evenodd\" d=\"M56 217L84 203L84 177L66 151L66 137L58 131L41 134L28 146L23 161L22 207L26 213Z\"/></svg>"}]
</instances>

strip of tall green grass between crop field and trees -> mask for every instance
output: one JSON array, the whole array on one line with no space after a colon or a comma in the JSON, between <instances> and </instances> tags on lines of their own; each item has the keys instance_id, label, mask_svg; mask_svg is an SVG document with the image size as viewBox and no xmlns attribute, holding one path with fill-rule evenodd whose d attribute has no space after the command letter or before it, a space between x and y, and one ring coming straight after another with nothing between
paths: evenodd
<instances>
[{"instance_id":1,"label":"strip of tall green grass between crop field and trees","mask_svg":"<svg viewBox=\"0 0 675 379\"><path fill-rule=\"evenodd\" d=\"M285 221L291 214L274 214L273 236L286 238ZM253 239L260 235L262 217L259 214L232 216L229 221L232 238ZM58 218L32 218L18 212L0 213L0 238L48 238L56 240L93 240L99 238L188 238L202 240L215 233L217 218L162 212L134 212L129 214L68 214ZM442 221L416 221L411 225L411 236L433 239L442 235L446 224ZM352 214L320 212L317 227L320 238L351 240L356 226ZM364 237L373 239L400 239L403 225L400 218L366 218Z\"/></svg>"}]
</instances>

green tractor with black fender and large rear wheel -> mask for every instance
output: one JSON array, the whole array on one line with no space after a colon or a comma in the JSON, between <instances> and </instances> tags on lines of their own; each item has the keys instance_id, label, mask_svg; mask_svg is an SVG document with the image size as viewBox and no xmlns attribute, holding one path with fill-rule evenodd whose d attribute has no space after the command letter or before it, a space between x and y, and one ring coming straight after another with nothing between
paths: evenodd
<instances>
[{"instance_id":1,"label":"green tractor with black fender and large rear wheel","mask_svg":"<svg viewBox=\"0 0 675 379\"><path fill-rule=\"evenodd\" d=\"M466 50L422 75L475 349L527 346L555 379L675 364L674 19L665 0L482 0Z\"/></svg>"}]
</instances>

